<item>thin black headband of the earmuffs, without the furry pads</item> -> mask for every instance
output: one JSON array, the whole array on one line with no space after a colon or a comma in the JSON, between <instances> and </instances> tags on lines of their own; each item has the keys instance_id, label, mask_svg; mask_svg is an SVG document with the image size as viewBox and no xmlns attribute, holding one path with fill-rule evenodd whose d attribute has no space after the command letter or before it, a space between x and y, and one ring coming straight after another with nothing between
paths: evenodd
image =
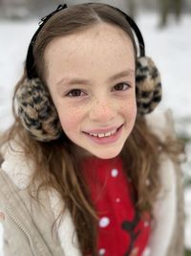
<instances>
[{"instance_id":1,"label":"thin black headband of the earmuffs, without the furry pads","mask_svg":"<svg viewBox=\"0 0 191 256\"><path fill-rule=\"evenodd\" d=\"M91 5L93 3L88 3L88 4ZM32 40L31 40L29 48L28 48L27 59L26 59L27 76L30 80L37 77L36 71L35 71L34 58L33 58L33 45L35 43L36 37L39 34L39 32L41 31L42 27L53 16L54 13L59 12L61 10L64 10L66 8L68 8L68 6L66 4L58 5L56 10L54 10L50 14L44 16L43 18L41 18L41 21L38 23L39 28L37 29L37 31L32 36ZM143 40L143 37L142 37L142 35L141 35L141 33L138 29L138 25L127 13L122 12L121 10L117 9L116 7L112 7L112 8L116 9L118 12L121 12L125 16L126 20L128 21L129 25L131 26L131 28L133 29L133 31L135 32L135 34L138 38L139 56L144 57L145 56L144 40Z\"/></svg>"}]
</instances>

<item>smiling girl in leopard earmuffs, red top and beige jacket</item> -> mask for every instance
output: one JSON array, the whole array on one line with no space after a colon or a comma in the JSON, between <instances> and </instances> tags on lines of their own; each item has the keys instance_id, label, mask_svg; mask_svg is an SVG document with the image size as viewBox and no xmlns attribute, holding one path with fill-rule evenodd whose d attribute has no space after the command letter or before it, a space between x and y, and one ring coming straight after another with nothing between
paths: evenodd
<instances>
[{"instance_id":1,"label":"smiling girl in leopard earmuffs, red top and beige jacket","mask_svg":"<svg viewBox=\"0 0 191 256\"><path fill-rule=\"evenodd\" d=\"M2 139L4 253L180 256L179 154L136 23L58 8L32 37ZM179 210L179 211L178 211Z\"/></svg>"}]
</instances>

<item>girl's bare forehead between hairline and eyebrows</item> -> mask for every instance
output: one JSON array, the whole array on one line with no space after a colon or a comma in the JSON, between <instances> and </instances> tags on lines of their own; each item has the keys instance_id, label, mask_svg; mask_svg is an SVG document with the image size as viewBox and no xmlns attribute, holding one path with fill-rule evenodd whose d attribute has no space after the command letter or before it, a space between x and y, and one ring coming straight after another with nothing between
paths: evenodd
<instances>
[{"instance_id":1,"label":"girl's bare forehead between hairline and eyebrows","mask_svg":"<svg viewBox=\"0 0 191 256\"><path fill-rule=\"evenodd\" d=\"M133 43L124 31L100 23L84 32L54 38L45 51L48 74L74 71L78 75L93 71L115 73L135 64Z\"/></svg>"}]
</instances>

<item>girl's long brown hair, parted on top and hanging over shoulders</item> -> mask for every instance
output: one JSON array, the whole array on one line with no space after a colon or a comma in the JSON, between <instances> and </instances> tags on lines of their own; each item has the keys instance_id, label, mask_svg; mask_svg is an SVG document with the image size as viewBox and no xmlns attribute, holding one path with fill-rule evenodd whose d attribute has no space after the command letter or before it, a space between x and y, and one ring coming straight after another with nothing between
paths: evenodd
<instances>
[{"instance_id":1,"label":"girl's long brown hair, parted on top and hanging over shoulders","mask_svg":"<svg viewBox=\"0 0 191 256\"><path fill-rule=\"evenodd\" d=\"M44 53L47 45L58 36L66 36L86 30L97 23L105 22L123 30L132 40L137 56L137 47L131 28L125 18L108 5L77 5L57 12L45 24L33 46L33 57L38 77L46 84L46 63ZM14 95L26 79L26 72L17 83ZM94 202L91 201L88 187L80 169L80 155L74 151L74 144L65 136L52 142L35 141L23 128L16 114L13 97L15 122L4 136L5 141L20 141L26 157L34 163L32 183L40 180L41 188L55 189L71 212L74 226L83 253L96 255L97 216ZM152 214L153 203L159 193L159 155L167 152L173 160L178 159L181 144L168 138L162 142L147 126L144 117L137 117L135 127L127 139L120 156L124 171L131 175L137 192L136 207L139 213ZM31 183L31 185L32 185ZM30 187L29 187L30 188ZM65 209L61 214L64 214Z\"/></svg>"}]
</instances>

